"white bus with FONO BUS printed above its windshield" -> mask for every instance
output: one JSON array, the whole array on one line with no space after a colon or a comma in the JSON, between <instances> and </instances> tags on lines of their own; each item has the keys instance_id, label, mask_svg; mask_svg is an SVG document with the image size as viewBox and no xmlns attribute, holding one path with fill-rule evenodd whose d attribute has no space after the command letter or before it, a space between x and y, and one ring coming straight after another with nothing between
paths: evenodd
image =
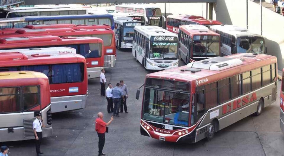
<instances>
[{"instance_id":1,"label":"white bus with FONO BUS printed above its windshield","mask_svg":"<svg viewBox=\"0 0 284 156\"><path fill-rule=\"evenodd\" d=\"M146 70L178 67L178 35L158 26L136 26L132 54Z\"/></svg>"}]
</instances>

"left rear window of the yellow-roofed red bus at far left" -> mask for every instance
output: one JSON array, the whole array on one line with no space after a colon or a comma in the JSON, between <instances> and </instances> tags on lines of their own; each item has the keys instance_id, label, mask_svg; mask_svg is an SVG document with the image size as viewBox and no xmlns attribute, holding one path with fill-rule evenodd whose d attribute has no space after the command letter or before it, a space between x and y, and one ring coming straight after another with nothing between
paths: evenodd
<instances>
[{"instance_id":1,"label":"left rear window of the yellow-roofed red bus at far left","mask_svg":"<svg viewBox=\"0 0 284 156\"><path fill-rule=\"evenodd\" d=\"M0 88L0 113L20 112L20 88Z\"/></svg>"}]
</instances>

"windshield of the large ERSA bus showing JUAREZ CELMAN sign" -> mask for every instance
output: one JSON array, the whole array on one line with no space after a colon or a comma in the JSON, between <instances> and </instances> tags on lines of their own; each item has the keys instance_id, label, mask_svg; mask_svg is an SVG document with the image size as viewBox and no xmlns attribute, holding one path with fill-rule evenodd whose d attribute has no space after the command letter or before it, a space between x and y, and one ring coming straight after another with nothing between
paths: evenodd
<instances>
[{"instance_id":1,"label":"windshield of the large ERSA bus showing JUAREZ CELMAN sign","mask_svg":"<svg viewBox=\"0 0 284 156\"><path fill-rule=\"evenodd\" d=\"M188 126L189 84L148 78L143 102L143 119Z\"/></svg>"}]
</instances>

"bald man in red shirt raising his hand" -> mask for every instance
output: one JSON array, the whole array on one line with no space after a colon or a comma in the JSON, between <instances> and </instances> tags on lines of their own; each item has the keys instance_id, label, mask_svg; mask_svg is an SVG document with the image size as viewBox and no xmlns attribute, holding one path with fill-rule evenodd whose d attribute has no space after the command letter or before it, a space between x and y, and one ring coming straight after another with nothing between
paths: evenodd
<instances>
[{"instance_id":1,"label":"bald man in red shirt raising his hand","mask_svg":"<svg viewBox=\"0 0 284 156\"><path fill-rule=\"evenodd\" d=\"M104 141L105 141L105 135L104 133L106 132L106 126L109 126L110 123L112 123L113 116L110 117L110 120L108 123L105 123L104 120L104 114L102 112L98 113L98 118L96 118L96 132L98 132L99 136L99 156L101 155L106 155L103 153L103 148L104 148Z\"/></svg>"}]
</instances>

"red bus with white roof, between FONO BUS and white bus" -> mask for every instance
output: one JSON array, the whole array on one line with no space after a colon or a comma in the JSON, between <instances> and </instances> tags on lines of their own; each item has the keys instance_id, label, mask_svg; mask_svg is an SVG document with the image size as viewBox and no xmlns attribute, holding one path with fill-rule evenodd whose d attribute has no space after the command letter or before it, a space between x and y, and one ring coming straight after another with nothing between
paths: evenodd
<instances>
[{"instance_id":1,"label":"red bus with white roof, between FONO BUS and white bus","mask_svg":"<svg viewBox=\"0 0 284 156\"><path fill-rule=\"evenodd\" d=\"M204 25L180 25L180 59L186 64L220 56L220 35Z\"/></svg>"}]
</instances>

